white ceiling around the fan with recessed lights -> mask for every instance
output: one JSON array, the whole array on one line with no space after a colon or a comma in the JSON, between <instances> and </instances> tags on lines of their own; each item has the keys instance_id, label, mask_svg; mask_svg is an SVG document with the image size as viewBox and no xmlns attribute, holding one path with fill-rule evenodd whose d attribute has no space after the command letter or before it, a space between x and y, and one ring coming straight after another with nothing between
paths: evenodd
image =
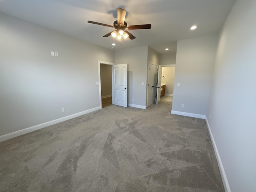
<instances>
[{"instance_id":1,"label":"white ceiling around the fan with recessed lights","mask_svg":"<svg viewBox=\"0 0 256 192\"><path fill-rule=\"evenodd\" d=\"M112 50L150 46L158 53L176 51L177 40L217 34L235 0L0 0L0 11ZM130 30L136 39L120 46L112 28L117 8L126 9L128 25L152 24L151 29ZM190 30L192 25L198 28ZM112 48L116 43L116 48Z\"/></svg>"}]
</instances>

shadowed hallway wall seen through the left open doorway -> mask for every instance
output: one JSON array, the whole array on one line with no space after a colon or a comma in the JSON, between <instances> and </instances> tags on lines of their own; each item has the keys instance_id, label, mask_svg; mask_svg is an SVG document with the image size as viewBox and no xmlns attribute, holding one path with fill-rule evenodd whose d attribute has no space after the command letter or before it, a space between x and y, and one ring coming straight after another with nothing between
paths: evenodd
<instances>
[{"instance_id":1,"label":"shadowed hallway wall seen through the left open doorway","mask_svg":"<svg viewBox=\"0 0 256 192\"><path fill-rule=\"evenodd\" d=\"M101 97L112 95L112 65L100 64Z\"/></svg>"}]
</instances>

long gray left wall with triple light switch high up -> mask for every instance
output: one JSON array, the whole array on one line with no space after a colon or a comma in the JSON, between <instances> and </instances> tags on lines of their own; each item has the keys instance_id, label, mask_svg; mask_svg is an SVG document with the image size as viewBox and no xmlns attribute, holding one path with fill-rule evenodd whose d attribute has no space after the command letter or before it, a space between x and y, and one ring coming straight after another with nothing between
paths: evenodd
<instances>
[{"instance_id":1,"label":"long gray left wall with triple light switch high up","mask_svg":"<svg viewBox=\"0 0 256 192\"><path fill-rule=\"evenodd\" d=\"M114 62L114 51L0 18L0 135L100 106L98 60Z\"/></svg>"}]
</instances>

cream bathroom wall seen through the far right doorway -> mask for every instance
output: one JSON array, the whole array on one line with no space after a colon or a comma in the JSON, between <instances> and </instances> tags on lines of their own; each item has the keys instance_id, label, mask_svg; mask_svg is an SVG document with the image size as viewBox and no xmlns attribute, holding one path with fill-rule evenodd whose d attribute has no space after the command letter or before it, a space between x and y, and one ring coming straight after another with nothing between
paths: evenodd
<instances>
[{"instance_id":1,"label":"cream bathroom wall seen through the far right doorway","mask_svg":"<svg viewBox=\"0 0 256 192\"><path fill-rule=\"evenodd\" d=\"M165 94L173 94L174 77L175 77L175 66L162 67L162 82L161 83L166 84Z\"/></svg>"}]
</instances>

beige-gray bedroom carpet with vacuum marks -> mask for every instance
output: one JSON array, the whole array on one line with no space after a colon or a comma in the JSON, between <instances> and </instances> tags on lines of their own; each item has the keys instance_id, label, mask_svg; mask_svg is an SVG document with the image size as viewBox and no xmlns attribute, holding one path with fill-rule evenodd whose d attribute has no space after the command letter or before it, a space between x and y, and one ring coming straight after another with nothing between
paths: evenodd
<instances>
[{"instance_id":1,"label":"beige-gray bedroom carpet with vacuum marks","mask_svg":"<svg viewBox=\"0 0 256 192\"><path fill-rule=\"evenodd\" d=\"M202 119L108 106L0 143L1 192L224 192Z\"/></svg>"}]
</instances>

